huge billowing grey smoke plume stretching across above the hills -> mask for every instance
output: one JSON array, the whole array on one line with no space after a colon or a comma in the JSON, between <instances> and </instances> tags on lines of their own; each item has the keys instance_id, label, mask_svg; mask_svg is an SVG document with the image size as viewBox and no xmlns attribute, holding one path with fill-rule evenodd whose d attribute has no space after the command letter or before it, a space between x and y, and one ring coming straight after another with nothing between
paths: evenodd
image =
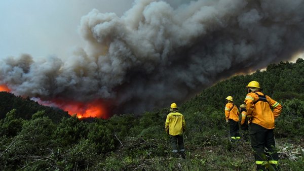
<instances>
[{"instance_id":1,"label":"huge billowing grey smoke plume stretching across above the hills","mask_svg":"<svg viewBox=\"0 0 304 171\"><path fill-rule=\"evenodd\" d=\"M79 27L86 47L65 59L8 57L0 84L48 101L102 99L112 113L168 107L303 51L303 9L303 0L137 0L122 17L92 10Z\"/></svg>"}]
</instances>

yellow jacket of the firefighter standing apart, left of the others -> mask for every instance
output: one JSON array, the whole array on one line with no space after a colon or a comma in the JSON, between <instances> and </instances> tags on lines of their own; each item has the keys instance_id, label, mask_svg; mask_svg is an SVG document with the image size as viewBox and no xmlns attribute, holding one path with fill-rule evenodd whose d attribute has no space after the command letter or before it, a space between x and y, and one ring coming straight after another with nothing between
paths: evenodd
<instances>
[{"instance_id":1,"label":"yellow jacket of the firefighter standing apart, left of the others","mask_svg":"<svg viewBox=\"0 0 304 171\"><path fill-rule=\"evenodd\" d=\"M186 128L186 122L182 114L172 111L167 115L165 129L169 135L181 135Z\"/></svg>"}]
</instances>

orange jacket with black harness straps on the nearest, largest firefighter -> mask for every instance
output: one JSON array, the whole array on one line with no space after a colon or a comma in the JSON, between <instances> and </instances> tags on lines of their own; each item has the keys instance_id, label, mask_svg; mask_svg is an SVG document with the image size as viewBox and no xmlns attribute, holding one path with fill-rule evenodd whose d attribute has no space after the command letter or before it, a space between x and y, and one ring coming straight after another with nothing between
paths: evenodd
<instances>
[{"instance_id":1,"label":"orange jacket with black harness straps on the nearest, largest firefighter","mask_svg":"<svg viewBox=\"0 0 304 171\"><path fill-rule=\"evenodd\" d=\"M258 101L259 99L260 101ZM264 101L262 101L263 99ZM262 92L257 91L248 93L244 102L246 103L247 117L252 117L252 123L261 125L265 129L275 128L275 118L277 118L282 111L282 106L278 102L269 96L265 96ZM274 108L273 111L270 106Z\"/></svg>"}]
</instances>

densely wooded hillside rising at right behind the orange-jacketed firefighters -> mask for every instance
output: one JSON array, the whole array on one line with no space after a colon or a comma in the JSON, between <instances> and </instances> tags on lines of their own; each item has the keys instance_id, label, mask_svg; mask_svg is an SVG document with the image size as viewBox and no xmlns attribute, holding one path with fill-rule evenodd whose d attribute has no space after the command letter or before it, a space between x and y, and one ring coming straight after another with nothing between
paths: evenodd
<instances>
[{"instance_id":1,"label":"densely wooded hillside rising at right behind the orange-jacketed firefighters","mask_svg":"<svg viewBox=\"0 0 304 171\"><path fill-rule=\"evenodd\" d=\"M263 92L277 101L304 100L303 75L304 60L301 58L296 63L272 64L266 71L257 70L251 75L237 75L220 81L187 101L182 107L187 112L200 111L210 106L221 110L227 96L233 96L235 104L242 104L247 94L246 86L251 80L260 82Z\"/></svg>"}]
</instances>

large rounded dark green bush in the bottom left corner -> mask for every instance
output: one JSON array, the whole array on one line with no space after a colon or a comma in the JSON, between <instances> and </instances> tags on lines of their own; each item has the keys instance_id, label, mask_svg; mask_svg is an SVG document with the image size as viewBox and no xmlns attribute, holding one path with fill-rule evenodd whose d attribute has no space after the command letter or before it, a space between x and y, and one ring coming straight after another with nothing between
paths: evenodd
<instances>
[{"instance_id":1,"label":"large rounded dark green bush in the bottom left corner","mask_svg":"<svg viewBox=\"0 0 304 171\"><path fill-rule=\"evenodd\" d=\"M6 163L4 168L7 170L20 169L21 166L26 168L32 166L33 162L44 159L53 147L51 137L54 131L55 124L48 117L26 121L21 132L5 146L8 152L1 159ZM44 165L43 162L41 164Z\"/></svg>"}]
</instances>

